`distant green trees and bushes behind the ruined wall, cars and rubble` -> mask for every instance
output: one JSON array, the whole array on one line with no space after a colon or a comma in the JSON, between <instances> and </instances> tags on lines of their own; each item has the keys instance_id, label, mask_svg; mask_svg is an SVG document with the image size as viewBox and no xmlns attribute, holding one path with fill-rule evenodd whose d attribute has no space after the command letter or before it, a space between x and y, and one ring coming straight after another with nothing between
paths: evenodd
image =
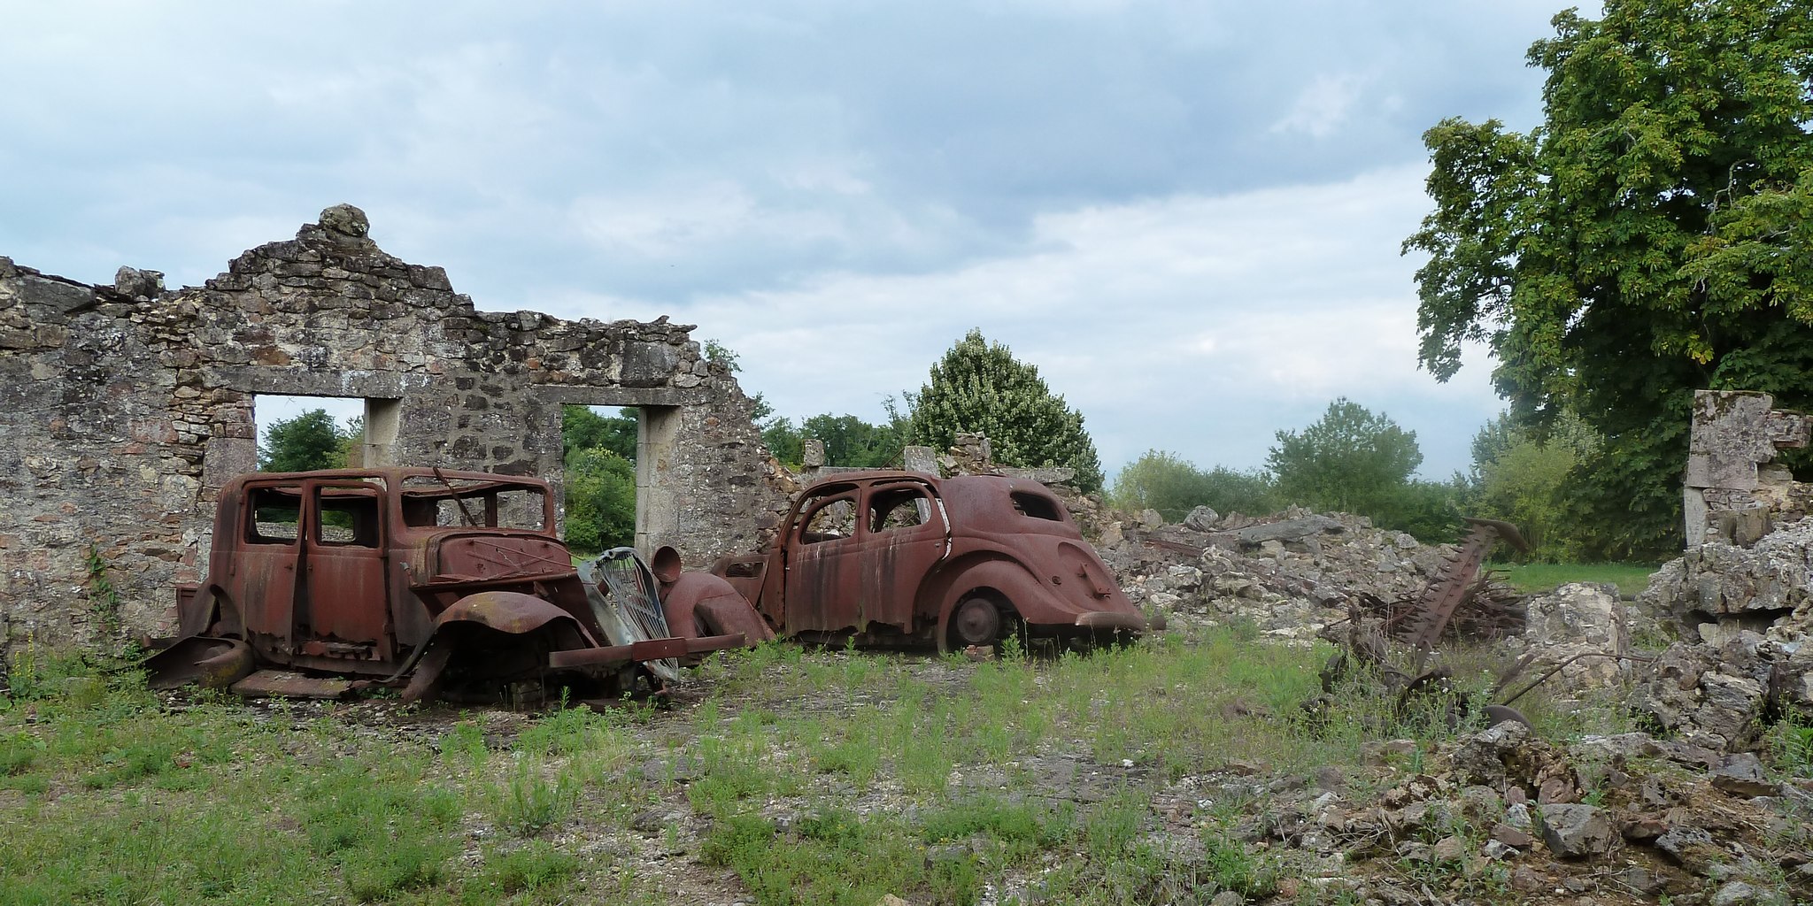
<instances>
[{"instance_id":1,"label":"distant green trees and bushes behind the ruined wall, cars and rubble","mask_svg":"<svg viewBox=\"0 0 1813 906\"><path fill-rule=\"evenodd\" d=\"M707 344L714 361L736 370L736 355ZM890 399L887 420L821 413L800 422L776 417L756 397L761 439L783 464L800 466L805 439L825 442L830 466L897 467L906 444L948 448L959 431L988 435L995 458L1008 466L1068 466L1077 484L1102 484L1095 446L1082 415L1050 391L1037 370L1023 364L981 332L966 333L917 393L905 393L906 411ZM629 545L636 529L636 410L615 415L567 406L562 419L566 538L578 553ZM303 471L341 467L363 426L337 426L323 410L272 424L259 444L259 467ZM1603 440L1581 419L1563 415L1546 429L1499 415L1472 442L1472 466L1449 480L1416 477L1423 462L1416 433L1385 413L1349 399L1329 402L1318 420L1282 429L1262 469L1200 467L1177 453L1149 449L1120 469L1108 493L1124 509L1155 509L1171 522L1193 507L1218 513L1269 515L1287 506L1369 516L1423 542L1450 542L1461 515L1517 524L1536 545L1534 556L1583 558L1603 545L1574 518L1568 487L1592 462Z\"/></svg>"}]
</instances>

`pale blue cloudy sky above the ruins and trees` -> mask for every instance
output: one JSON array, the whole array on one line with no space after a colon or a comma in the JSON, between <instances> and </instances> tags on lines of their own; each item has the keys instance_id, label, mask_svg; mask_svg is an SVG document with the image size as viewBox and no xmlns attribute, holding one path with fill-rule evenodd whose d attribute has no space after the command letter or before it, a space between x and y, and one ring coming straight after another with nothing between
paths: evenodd
<instances>
[{"instance_id":1,"label":"pale blue cloudy sky above the ruins and trees","mask_svg":"<svg viewBox=\"0 0 1813 906\"><path fill-rule=\"evenodd\" d=\"M1416 368L1423 129L1537 121L1559 0L78 2L0 29L0 255L198 284L334 203L484 310L698 324L783 415L968 328L1102 462L1258 467L1345 395L1425 477L1499 410Z\"/></svg>"}]
</instances>

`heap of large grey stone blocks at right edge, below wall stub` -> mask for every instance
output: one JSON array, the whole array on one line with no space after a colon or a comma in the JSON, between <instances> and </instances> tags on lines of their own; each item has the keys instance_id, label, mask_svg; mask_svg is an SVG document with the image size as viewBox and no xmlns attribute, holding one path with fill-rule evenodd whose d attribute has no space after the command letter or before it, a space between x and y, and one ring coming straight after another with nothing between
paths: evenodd
<instances>
[{"instance_id":1,"label":"heap of large grey stone blocks at right edge, below wall stub","mask_svg":"<svg viewBox=\"0 0 1813 906\"><path fill-rule=\"evenodd\" d=\"M1746 752L1777 719L1813 719L1813 518L1753 547L1706 542L1659 569L1639 605L1682 638L1637 690L1659 728Z\"/></svg>"}]
</instances>

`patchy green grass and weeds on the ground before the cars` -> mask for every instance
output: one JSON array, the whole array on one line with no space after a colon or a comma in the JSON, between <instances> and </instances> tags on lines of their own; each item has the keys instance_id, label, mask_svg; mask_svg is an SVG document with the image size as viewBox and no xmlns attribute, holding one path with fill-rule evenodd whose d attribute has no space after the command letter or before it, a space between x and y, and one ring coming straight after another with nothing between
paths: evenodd
<instances>
[{"instance_id":1,"label":"patchy green grass and weeds on the ground before the cars","mask_svg":"<svg viewBox=\"0 0 1813 906\"><path fill-rule=\"evenodd\" d=\"M169 699L16 663L0 904L1258 897L1342 875L1235 834L1267 785L1363 795L1394 770L1362 768L1369 739L1420 739L1414 772L1454 732L1360 685L1305 710L1327 654L1222 629L1042 661L765 645L606 714ZM1550 737L1628 728L1534 698Z\"/></svg>"}]
</instances>

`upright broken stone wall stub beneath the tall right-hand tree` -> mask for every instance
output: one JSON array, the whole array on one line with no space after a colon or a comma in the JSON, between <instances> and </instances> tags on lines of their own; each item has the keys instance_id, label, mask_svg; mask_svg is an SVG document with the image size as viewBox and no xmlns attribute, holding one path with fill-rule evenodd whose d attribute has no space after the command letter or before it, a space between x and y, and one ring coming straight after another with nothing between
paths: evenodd
<instances>
[{"instance_id":1,"label":"upright broken stone wall stub beneath the tall right-hand tree","mask_svg":"<svg viewBox=\"0 0 1813 906\"><path fill-rule=\"evenodd\" d=\"M1686 542L1748 545L1777 522L1813 513L1813 486L1797 482L1775 453L1808 446L1813 422L1775 410L1775 397L1750 391L1693 393L1684 489Z\"/></svg>"}]
</instances>

